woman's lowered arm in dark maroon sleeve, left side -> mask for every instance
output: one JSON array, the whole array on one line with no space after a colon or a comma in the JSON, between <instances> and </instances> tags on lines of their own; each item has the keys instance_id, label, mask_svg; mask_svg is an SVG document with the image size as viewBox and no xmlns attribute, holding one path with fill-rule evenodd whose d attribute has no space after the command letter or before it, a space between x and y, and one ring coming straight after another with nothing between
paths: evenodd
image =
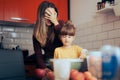
<instances>
[{"instance_id":1,"label":"woman's lowered arm in dark maroon sleeve, left side","mask_svg":"<svg viewBox=\"0 0 120 80\"><path fill-rule=\"evenodd\" d=\"M41 69L46 68L40 43L37 41L37 39L34 36L33 36L33 47L34 47L34 52L37 60L37 67Z\"/></svg>"}]
</instances>

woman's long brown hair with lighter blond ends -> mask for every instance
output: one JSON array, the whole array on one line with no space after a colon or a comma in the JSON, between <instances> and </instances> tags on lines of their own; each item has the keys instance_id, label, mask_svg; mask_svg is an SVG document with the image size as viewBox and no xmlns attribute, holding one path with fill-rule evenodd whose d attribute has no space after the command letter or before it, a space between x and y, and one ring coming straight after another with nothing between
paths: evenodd
<instances>
[{"instance_id":1,"label":"woman's long brown hair with lighter blond ends","mask_svg":"<svg viewBox=\"0 0 120 80\"><path fill-rule=\"evenodd\" d=\"M45 10L47 8L54 8L58 15L58 10L53 3L49 1L43 1L39 5L38 11L37 11L37 20L34 28L34 36L39 41L41 46L45 46L47 41L53 42L55 37L54 25L52 24L51 27L46 27L46 24L45 24L44 16L45 16ZM48 33L50 33L49 36L47 36Z\"/></svg>"}]
</instances>

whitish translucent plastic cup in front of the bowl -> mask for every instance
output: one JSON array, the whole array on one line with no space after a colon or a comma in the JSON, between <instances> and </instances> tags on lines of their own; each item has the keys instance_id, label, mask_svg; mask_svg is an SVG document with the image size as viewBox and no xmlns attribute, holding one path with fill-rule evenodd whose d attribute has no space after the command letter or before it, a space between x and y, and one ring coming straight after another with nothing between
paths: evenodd
<instances>
[{"instance_id":1,"label":"whitish translucent plastic cup in front of the bowl","mask_svg":"<svg viewBox=\"0 0 120 80\"><path fill-rule=\"evenodd\" d=\"M69 80L70 61L58 59L53 62L53 65L55 80Z\"/></svg>"}]
</instances>

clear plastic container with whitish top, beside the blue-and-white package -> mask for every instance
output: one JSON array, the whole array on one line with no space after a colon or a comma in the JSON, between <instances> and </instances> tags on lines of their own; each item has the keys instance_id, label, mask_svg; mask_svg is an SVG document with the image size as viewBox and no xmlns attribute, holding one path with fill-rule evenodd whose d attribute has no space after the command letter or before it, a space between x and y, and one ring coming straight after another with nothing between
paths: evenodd
<instances>
[{"instance_id":1,"label":"clear plastic container with whitish top, beside the blue-and-white package","mask_svg":"<svg viewBox=\"0 0 120 80\"><path fill-rule=\"evenodd\" d=\"M97 78L102 77L102 55L100 51L92 51L87 57L88 70Z\"/></svg>"}]
</instances>

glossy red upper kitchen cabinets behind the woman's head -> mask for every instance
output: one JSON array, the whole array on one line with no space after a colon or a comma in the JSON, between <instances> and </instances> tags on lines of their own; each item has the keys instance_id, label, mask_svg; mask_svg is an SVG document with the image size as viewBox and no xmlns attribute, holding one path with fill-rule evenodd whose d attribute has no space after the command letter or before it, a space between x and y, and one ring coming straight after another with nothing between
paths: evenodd
<instances>
[{"instance_id":1,"label":"glossy red upper kitchen cabinets behind the woman's head","mask_svg":"<svg viewBox=\"0 0 120 80\"><path fill-rule=\"evenodd\" d=\"M37 8L42 1L43 0L0 0L0 20L35 23ZM68 20L68 0L49 1L57 6L59 11L58 18L65 21ZM20 18L21 20L16 20L16 18Z\"/></svg>"}]
</instances>

